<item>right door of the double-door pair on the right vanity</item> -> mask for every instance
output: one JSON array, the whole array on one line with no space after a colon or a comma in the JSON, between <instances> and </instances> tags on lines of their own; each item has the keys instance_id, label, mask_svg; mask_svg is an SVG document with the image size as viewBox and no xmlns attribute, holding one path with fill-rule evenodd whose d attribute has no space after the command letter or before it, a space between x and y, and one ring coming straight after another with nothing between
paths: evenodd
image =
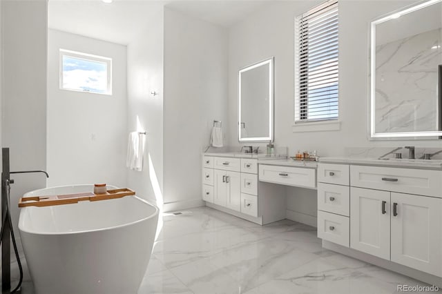
<instances>
[{"instance_id":1,"label":"right door of the double-door pair on the right vanity","mask_svg":"<svg viewBox=\"0 0 442 294\"><path fill-rule=\"evenodd\" d=\"M441 277L441 252L442 199L392 193L392 262Z\"/></svg>"}]
</instances>

